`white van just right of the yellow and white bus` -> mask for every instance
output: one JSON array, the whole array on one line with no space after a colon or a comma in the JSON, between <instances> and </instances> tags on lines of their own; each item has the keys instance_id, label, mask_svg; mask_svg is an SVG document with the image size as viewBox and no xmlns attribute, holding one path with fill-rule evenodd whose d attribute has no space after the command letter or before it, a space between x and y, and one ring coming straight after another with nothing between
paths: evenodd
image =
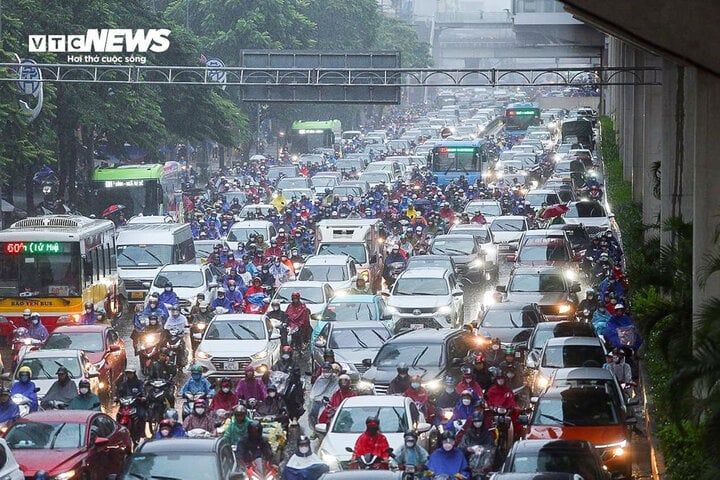
<instances>
[{"instance_id":1,"label":"white van just right of the yellow and white bus","mask_svg":"<svg viewBox=\"0 0 720 480\"><path fill-rule=\"evenodd\" d=\"M118 229L117 263L121 293L128 303L143 303L150 282L165 265L195 263L195 244L187 223L146 223L150 217Z\"/></svg>"}]
</instances>

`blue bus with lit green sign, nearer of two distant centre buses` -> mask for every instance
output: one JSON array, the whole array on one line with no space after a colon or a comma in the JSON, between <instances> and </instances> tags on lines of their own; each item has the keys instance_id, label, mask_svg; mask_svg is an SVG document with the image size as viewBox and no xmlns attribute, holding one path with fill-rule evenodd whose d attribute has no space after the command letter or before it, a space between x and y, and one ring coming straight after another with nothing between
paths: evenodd
<instances>
[{"instance_id":1,"label":"blue bus with lit green sign, nearer of two distant centre buses","mask_svg":"<svg viewBox=\"0 0 720 480\"><path fill-rule=\"evenodd\" d=\"M438 185L446 185L461 175L475 183L487 172L489 158L483 140L443 140L433 145L429 163Z\"/></svg>"}]
</instances>

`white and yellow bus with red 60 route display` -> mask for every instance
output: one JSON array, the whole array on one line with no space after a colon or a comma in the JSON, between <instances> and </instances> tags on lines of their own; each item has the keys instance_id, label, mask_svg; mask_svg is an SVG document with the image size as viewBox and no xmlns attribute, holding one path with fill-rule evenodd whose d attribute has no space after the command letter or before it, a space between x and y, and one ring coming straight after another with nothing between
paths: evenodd
<instances>
[{"instance_id":1,"label":"white and yellow bus with red 60 route display","mask_svg":"<svg viewBox=\"0 0 720 480\"><path fill-rule=\"evenodd\" d=\"M0 230L0 332L29 308L48 331L80 318L86 302L108 317L123 308L115 225L79 215L29 217Z\"/></svg>"}]
</instances>

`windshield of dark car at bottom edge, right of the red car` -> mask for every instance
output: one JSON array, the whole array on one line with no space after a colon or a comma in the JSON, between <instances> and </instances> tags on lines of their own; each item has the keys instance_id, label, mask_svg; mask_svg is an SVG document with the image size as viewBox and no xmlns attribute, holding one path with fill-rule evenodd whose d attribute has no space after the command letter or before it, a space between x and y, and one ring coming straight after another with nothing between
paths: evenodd
<instances>
[{"instance_id":1,"label":"windshield of dark car at bottom edge, right of the red car","mask_svg":"<svg viewBox=\"0 0 720 480\"><path fill-rule=\"evenodd\" d=\"M125 480L145 479L220 480L218 460L213 452L206 454L139 453L132 457Z\"/></svg>"}]
</instances>

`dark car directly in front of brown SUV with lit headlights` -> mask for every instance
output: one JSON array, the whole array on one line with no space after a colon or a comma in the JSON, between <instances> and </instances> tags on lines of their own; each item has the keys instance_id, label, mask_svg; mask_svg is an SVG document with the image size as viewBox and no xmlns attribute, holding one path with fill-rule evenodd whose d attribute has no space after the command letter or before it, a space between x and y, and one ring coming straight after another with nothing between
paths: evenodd
<instances>
[{"instance_id":1,"label":"dark car directly in front of brown SUV with lit headlights","mask_svg":"<svg viewBox=\"0 0 720 480\"><path fill-rule=\"evenodd\" d=\"M536 303L493 303L478 312L475 325L484 337L499 338L503 345L526 347L535 326L545 321Z\"/></svg>"}]
</instances>

